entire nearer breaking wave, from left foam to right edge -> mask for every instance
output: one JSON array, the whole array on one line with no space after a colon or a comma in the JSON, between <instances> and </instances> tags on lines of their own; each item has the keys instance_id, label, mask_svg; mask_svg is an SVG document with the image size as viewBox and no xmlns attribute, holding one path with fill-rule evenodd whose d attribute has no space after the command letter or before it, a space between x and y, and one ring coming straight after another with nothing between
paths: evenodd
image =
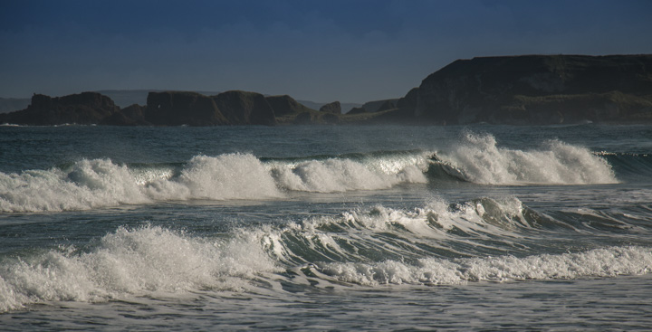
<instances>
[{"instance_id":1,"label":"entire nearer breaking wave, from left foam to right edge","mask_svg":"<svg viewBox=\"0 0 652 332\"><path fill-rule=\"evenodd\" d=\"M572 280L652 271L649 242L605 243L599 234L612 230L595 227L600 220L648 234L649 223L632 229L628 221L594 217L585 225L533 211L516 198L478 198L241 225L213 237L120 227L85 249L61 246L0 259L0 312L48 301L197 291ZM572 233L584 240L561 241Z\"/></svg>"}]
</instances>

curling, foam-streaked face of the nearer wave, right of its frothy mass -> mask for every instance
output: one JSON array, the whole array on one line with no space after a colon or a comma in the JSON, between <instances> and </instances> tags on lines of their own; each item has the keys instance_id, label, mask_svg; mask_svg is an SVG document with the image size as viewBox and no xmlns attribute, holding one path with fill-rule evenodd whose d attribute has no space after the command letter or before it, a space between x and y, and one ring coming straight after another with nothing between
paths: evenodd
<instances>
[{"instance_id":1,"label":"curling, foam-streaked face of the nearer wave, right of its frothy mass","mask_svg":"<svg viewBox=\"0 0 652 332\"><path fill-rule=\"evenodd\" d=\"M513 242L526 232L543 232L538 223L543 218L516 198L461 204L434 200L412 210L376 205L290 222L271 228L262 242L287 265L503 254L513 251Z\"/></svg>"}]
</instances>

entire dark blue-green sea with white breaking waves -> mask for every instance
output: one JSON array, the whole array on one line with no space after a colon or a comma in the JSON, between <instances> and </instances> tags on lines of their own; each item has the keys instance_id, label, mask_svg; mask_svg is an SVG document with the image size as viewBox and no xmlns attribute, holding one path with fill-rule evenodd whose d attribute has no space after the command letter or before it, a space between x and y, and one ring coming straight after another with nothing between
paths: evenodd
<instances>
[{"instance_id":1,"label":"entire dark blue-green sea with white breaking waves","mask_svg":"<svg viewBox=\"0 0 652 332\"><path fill-rule=\"evenodd\" d=\"M652 127L0 127L0 329L645 330Z\"/></svg>"}]
</instances>

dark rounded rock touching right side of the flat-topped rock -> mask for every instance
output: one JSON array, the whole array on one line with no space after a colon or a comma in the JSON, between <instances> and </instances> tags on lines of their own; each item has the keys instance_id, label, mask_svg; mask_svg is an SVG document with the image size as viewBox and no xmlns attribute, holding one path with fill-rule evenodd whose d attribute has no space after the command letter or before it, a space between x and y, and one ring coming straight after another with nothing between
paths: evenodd
<instances>
[{"instance_id":1,"label":"dark rounded rock touching right side of the flat-topped rock","mask_svg":"<svg viewBox=\"0 0 652 332\"><path fill-rule=\"evenodd\" d=\"M274 110L260 93L233 90L211 98L232 125L276 124Z\"/></svg>"}]
</instances>

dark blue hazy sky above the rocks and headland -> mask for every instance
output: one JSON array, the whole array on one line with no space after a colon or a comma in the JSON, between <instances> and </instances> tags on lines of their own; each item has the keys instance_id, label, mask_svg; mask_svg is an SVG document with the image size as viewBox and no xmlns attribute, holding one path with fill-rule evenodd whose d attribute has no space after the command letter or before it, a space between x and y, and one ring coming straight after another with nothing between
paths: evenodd
<instances>
[{"instance_id":1,"label":"dark blue hazy sky above the rocks and headland","mask_svg":"<svg viewBox=\"0 0 652 332\"><path fill-rule=\"evenodd\" d=\"M404 96L457 59L652 53L649 0L0 0L0 97Z\"/></svg>"}]
</instances>

